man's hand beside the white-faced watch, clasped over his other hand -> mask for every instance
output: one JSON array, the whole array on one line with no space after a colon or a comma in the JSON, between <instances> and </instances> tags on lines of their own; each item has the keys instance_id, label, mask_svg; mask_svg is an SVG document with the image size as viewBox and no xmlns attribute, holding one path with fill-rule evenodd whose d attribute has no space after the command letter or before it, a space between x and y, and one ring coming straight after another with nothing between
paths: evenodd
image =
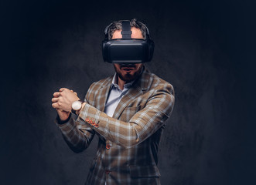
<instances>
[{"instance_id":1,"label":"man's hand beside the white-faced watch, clasped over his other hand","mask_svg":"<svg viewBox=\"0 0 256 185\"><path fill-rule=\"evenodd\" d=\"M67 88L61 88L59 92L53 93L52 106L55 109L62 109L71 112L72 103L79 100L77 93Z\"/></svg>"}]
</instances>

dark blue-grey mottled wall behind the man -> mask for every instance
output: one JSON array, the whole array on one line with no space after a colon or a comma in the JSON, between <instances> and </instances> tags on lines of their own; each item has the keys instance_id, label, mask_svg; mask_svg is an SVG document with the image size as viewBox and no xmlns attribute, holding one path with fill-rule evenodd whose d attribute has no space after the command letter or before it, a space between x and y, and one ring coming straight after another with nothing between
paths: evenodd
<instances>
[{"instance_id":1,"label":"dark blue-grey mottled wall behind the man","mask_svg":"<svg viewBox=\"0 0 256 185\"><path fill-rule=\"evenodd\" d=\"M1 2L1 184L84 184L96 151L73 153L54 123L53 93L83 98L113 74L104 28L138 18L155 41L148 69L176 105L159 150L162 184L253 184L254 1Z\"/></svg>"}]
</instances>

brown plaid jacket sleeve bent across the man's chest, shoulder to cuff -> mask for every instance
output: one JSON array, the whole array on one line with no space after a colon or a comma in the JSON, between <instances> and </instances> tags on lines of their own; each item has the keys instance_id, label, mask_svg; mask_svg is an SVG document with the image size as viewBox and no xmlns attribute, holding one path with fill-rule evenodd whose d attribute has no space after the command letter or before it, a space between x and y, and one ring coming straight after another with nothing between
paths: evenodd
<instances>
[{"instance_id":1,"label":"brown plaid jacket sleeve bent across the man's chest, shoulder to cuff","mask_svg":"<svg viewBox=\"0 0 256 185\"><path fill-rule=\"evenodd\" d=\"M159 130L172 113L174 106L172 85L159 85L147 100L145 107L135 113L128 122L114 119L88 103L80 111L78 122L90 126L105 140L130 148L142 143Z\"/></svg>"}]
</instances>

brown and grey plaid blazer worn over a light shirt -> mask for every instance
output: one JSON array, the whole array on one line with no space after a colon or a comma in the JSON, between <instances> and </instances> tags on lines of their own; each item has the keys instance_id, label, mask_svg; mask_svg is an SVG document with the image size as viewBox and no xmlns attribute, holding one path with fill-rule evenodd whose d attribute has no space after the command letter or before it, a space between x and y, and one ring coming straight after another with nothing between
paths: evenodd
<instances>
[{"instance_id":1,"label":"brown and grey plaid blazer worn over a light shirt","mask_svg":"<svg viewBox=\"0 0 256 185\"><path fill-rule=\"evenodd\" d=\"M74 152L100 138L86 184L160 184L157 152L174 106L172 85L145 69L110 117L104 106L112 79L94 82L76 122L58 126Z\"/></svg>"}]
</instances>

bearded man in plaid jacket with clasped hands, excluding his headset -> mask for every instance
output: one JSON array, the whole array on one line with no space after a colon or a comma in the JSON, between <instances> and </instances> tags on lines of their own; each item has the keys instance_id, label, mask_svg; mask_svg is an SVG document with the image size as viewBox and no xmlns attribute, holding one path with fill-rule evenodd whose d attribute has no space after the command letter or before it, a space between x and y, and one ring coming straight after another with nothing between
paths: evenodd
<instances>
[{"instance_id":1,"label":"bearded man in plaid jacket with clasped hands, excluding his headset","mask_svg":"<svg viewBox=\"0 0 256 185\"><path fill-rule=\"evenodd\" d=\"M131 38L145 39L145 25L130 22ZM108 35L121 39L121 22L113 22ZM56 124L70 148L85 150L96 134L97 154L86 184L160 184L157 152L166 119L174 105L172 85L155 76L142 63L114 64L115 74L94 82L84 103L70 116L80 98L61 88L53 94Z\"/></svg>"}]
</instances>

